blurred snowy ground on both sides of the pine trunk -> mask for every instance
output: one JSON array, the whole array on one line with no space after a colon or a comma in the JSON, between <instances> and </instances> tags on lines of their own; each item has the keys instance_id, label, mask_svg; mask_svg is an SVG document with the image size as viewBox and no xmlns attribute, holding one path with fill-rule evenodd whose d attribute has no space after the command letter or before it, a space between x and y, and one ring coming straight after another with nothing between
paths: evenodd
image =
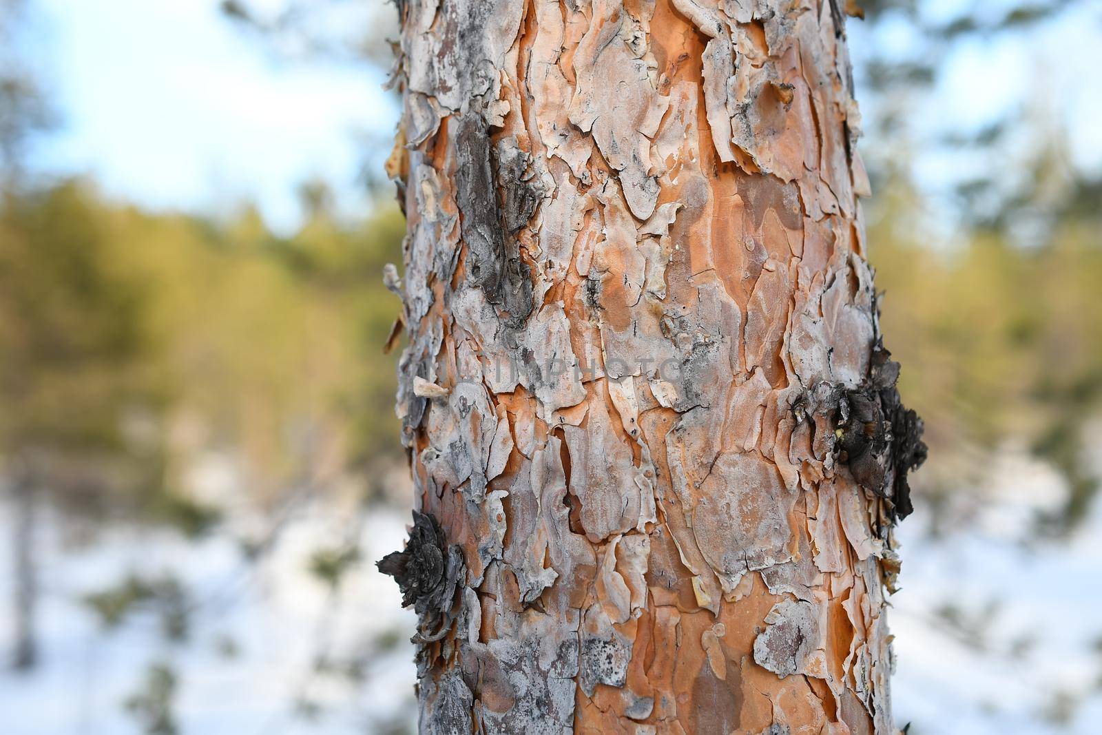
<instances>
[{"instance_id":1,"label":"blurred snowy ground on both sides of the pine trunk","mask_svg":"<svg viewBox=\"0 0 1102 735\"><path fill-rule=\"evenodd\" d=\"M900 528L903 591L892 598L898 670L894 705L911 735L1093 734L1102 721L1102 510L1068 542L1027 548L1026 520L1058 497L1058 480L1017 455L983 489L986 511L938 539L922 510ZM11 515L0 508L0 538ZM311 553L349 533L346 509L299 508L263 561L249 564L219 534L198 543L169 531L119 529L93 545L66 544L44 523L41 666L0 674L3 735L139 732L122 706L147 666L179 674L182 735L390 733L411 727L411 613L367 563L397 549L407 515L369 514L363 562L336 594L307 571ZM8 547L0 554L7 601ZM192 634L166 642L138 615L104 633L80 602L130 572L173 571L194 592ZM953 608L947 608L950 603ZM3 618L7 619L4 615ZM7 633L4 634L7 635ZM312 674L320 653L365 657L358 678ZM320 709L295 713L295 702ZM396 728L397 726L397 728Z\"/></svg>"}]
</instances>

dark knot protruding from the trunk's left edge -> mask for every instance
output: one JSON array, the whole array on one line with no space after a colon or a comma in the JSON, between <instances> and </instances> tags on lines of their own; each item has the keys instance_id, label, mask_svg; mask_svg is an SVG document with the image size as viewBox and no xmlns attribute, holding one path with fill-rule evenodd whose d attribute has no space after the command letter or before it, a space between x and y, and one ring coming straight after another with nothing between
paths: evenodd
<instances>
[{"instance_id":1,"label":"dark knot protruding from the trunk's left edge","mask_svg":"<svg viewBox=\"0 0 1102 735\"><path fill-rule=\"evenodd\" d=\"M463 552L449 547L444 531L429 514L413 511L413 528L403 551L396 551L376 562L383 574L398 582L402 607L413 606L418 614L418 637L426 642L439 640L451 627L455 588L463 576Z\"/></svg>"}]
</instances>

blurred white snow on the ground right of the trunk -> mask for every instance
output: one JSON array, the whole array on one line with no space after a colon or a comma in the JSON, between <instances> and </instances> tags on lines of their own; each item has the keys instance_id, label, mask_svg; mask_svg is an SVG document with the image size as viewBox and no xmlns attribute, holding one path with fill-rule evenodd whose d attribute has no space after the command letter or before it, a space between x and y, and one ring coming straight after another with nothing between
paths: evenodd
<instances>
[{"instance_id":1,"label":"blurred white snow on the ground right of the trunk","mask_svg":"<svg viewBox=\"0 0 1102 735\"><path fill-rule=\"evenodd\" d=\"M980 491L985 510L947 536L925 534L920 507L898 529L896 720L912 722L911 735L1098 733L1102 506L1067 542L1026 545L1027 520L1060 497L1059 478L1012 453ZM947 604L958 610L939 615ZM1078 706L1061 714L1061 700Z\"/></svg>"}]
</instances>

